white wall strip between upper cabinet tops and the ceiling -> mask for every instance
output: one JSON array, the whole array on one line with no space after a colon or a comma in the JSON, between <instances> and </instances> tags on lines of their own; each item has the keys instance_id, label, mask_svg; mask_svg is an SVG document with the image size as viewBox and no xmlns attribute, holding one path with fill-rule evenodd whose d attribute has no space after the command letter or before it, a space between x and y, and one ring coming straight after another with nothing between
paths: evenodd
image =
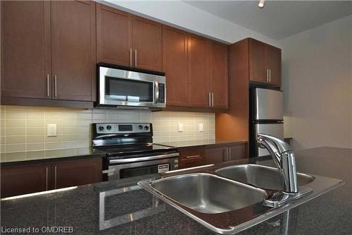
<instances>
[{"instance_id":1,"label":"white wall strip between upper cabinet tops and the ceiling","mask_svg":"<svg viewBox=\"0 0 352 235\"><path fill-rule=\"evenodd\" d=\"M182 1L100 1L103 4L120 8L122 11L151 18L176 28L195 32L199 35L233 43L246 37L267 42L279 47L277 40L254 32L228 20L214 16Z\"/></svg>"}]
</instances>

